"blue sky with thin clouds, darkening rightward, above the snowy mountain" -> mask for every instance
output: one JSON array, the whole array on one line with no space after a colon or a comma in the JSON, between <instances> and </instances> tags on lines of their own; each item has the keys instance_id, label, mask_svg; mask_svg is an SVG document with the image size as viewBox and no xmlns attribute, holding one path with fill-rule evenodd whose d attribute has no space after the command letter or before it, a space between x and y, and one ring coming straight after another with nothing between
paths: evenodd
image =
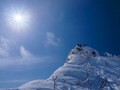
<instances>
[{"instance_id":1,"label":"blue sky with thin clouds, darkening rightward, above the snowy mountain","mask_svg":"<svg viewBox=\"0 0 120 90\"><path fill-rule=\"evenodd\" d=\"M11 11L30 18L19 31ZM47 79L77 43L120 54L117 0L0 0L0 88Z\"/></svg>"}]
</instances>

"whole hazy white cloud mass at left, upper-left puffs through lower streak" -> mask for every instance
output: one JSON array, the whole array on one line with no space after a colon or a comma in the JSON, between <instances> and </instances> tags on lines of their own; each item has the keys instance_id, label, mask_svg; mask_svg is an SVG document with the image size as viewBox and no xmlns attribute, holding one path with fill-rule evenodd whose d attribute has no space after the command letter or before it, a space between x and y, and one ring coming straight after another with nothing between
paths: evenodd
<instances>
[{"instance_id":1,"label":"whole hazy white cloud mass at left, upper-left puffs through lower streak","mask_svg":"<svg viewBox=\"0 0 120 90\"><path fill-rule=\"evenodd\" d=\"M11 54L12 52L12 54ZM18 53L16 55L16 52ZM18 46L15 41L0 37L0 69L9 66L23 66L48 61L49 56L34 56L24 46Z\"/></svg>"}]
</instances>

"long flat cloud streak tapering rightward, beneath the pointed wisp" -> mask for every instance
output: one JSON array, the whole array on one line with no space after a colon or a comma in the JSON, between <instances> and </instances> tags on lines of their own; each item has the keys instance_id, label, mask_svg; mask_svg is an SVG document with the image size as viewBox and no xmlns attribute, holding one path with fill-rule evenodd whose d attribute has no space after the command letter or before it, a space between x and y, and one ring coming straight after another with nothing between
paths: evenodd
<instances>
[{"instance_id":1,"label":"long flat cloud streak tapering rightward, beneath the pointed wisp","mask_svg":"<svg viewBox=\"0 0 120 90\"><path fill-rule=\"evenodd\" d=\"M26 66L26 65L34 65L38 63L42 63L44 61L48 61L51 57L43 56L30 56L30 57L6 57L0 58L0 69L6 67L17 67L17 66ZM11 67L11 68L12 68ZM17 69L17 68L14 68Z\"/></svg>"}]
</instances>

